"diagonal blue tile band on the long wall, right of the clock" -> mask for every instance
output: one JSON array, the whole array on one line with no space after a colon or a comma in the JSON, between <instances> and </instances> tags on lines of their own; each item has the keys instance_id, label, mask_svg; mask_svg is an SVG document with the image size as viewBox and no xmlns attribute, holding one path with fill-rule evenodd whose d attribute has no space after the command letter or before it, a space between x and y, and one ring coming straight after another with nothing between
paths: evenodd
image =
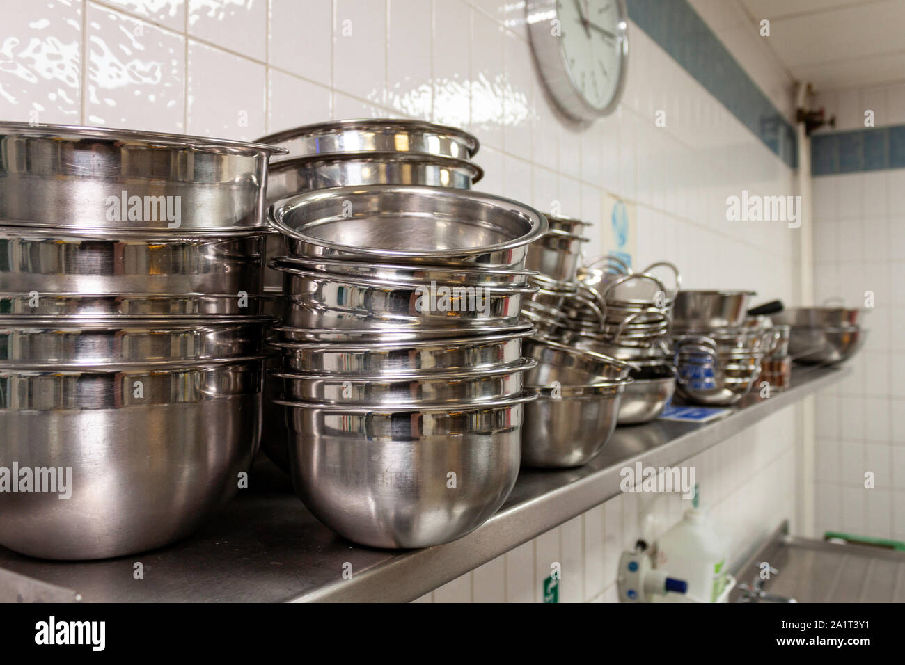
<instances>
[{"instance_id":1,"label":"diagonal blue tile band on the long wall, right of the clock","mask_svg":"<svg viewBox=\"0 0 905 665\"><path fill-rule=\"evenodd\" d=\"M798 166L795 128L687 0L626 0L626 5L629 18L654 42L786 165ZM629 35L629 58L631 40Z\"/></svg>"}]
</instances>

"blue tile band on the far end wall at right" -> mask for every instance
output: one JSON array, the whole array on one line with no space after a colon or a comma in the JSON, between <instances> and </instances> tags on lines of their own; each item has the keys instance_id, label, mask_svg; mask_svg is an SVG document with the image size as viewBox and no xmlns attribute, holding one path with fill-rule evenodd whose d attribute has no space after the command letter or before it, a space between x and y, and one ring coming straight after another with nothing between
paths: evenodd
<instances>
[{"instance_id":1,"label":"blue tile band on the far end wall at right","mask_svg":"<svg viewBox=\"0 0 905 665\"><path fill-rule=\"evenodd\" d=\"M811 175L905 168L905 125L835 131L811 137Z\"/></svg>"}]
</instances>

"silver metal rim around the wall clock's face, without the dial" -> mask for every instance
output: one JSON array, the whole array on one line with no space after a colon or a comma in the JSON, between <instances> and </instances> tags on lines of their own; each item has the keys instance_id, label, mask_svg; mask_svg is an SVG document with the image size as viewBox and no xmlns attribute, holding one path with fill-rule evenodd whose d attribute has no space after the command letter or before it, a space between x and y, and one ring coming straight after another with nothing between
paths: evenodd
<instances>
[{"instance_id":1,"label":"silver metal rim around the wall clock's face, without the dial","mask_svg":"<svg viewBox=\"0 0 905 665\"><path fill-rule=\"evenodd\" d=\"M566 61L561 37L554 37L549 31L548 21L530 23L531 14L552 14L558 17L557 0L526 0L525 23L528 25L529 41L538 62L541 78L547 87L550 96L556 101L557 107L569 118L575 120L593 120L602 118L613 112L622 99L625 87L625 75L628 71L628 15L625 9L625 0L614 0L620 19L624 21L625 28L619 33L617 40L621 46L619 49L619 79L610 100L605 107L598 108L585 99L576 85Z\"/></svg>"}]
</instances>

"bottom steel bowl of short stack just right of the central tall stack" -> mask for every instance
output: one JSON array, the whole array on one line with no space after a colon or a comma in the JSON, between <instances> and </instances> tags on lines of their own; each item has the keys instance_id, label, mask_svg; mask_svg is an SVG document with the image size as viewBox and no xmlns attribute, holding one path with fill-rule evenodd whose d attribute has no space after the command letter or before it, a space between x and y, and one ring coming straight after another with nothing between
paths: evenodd
<instances>
[{"instance_id":1,"label":"bottom steel bowl of short stack just right of the central tall stack","mask_svg":"<svg viewBox=\"0 0 905 665\"><path fill-rule=\"evenodd\" d=\"M631 381L535 388L538 400L525 404L521 463L541 469L586 464L612 436Z\"/></svg>"}]
</instances>

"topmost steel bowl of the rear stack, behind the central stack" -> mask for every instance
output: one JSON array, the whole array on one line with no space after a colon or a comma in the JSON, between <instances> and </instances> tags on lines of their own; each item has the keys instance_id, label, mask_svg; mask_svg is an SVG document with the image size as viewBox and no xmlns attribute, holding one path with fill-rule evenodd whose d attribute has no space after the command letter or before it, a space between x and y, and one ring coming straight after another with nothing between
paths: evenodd
<instances>
[{"instance_id":1,"label":"topmost steel bowl of the rear stack, behind the central stack","mask_svg":"<svg viewBox=\"0 0 905 665\"><path fill-rule=\"evenodd\" d=\"M291 155L411 151L469 159L480 147L477 138L459 128L392 118L320 122L285 129L258 141L285 147Z\"/></svg>"}]
</instances>

